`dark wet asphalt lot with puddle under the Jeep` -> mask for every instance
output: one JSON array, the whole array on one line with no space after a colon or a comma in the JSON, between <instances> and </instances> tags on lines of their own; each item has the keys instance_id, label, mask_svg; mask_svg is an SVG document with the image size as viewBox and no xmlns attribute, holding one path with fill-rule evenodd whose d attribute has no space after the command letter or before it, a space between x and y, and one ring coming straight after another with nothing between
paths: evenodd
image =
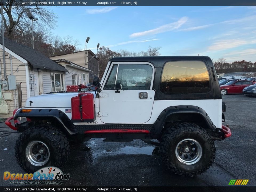
<instances>
[{"instance_id":1,"label":"dark wet asphalt lot with puddle under the Jeep","mask_svg":"<svg viewBox=\"0 0 256 192\"><path fill-rule=\"evenodd\" d=\"M249 179L247 186L256 186L256 98L224 95L223 101L227 106L225 125L230 125L232 136L215 141L215 161L203 175L171 173L162 163L158 147L140 140L115 143L91 139L71 147L69 159L61 167L70 179L62 186L228 186L231 179ZM0 186L11 186L2 179L4 171L24 173L14 157L18 135L0 137Z\"/></svg>"}]
</instances>

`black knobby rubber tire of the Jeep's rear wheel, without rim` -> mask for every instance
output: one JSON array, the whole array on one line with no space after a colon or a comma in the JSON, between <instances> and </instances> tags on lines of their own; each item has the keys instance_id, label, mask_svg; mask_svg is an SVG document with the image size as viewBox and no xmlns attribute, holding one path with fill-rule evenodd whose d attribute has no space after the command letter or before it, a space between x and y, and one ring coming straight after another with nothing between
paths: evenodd
<instances>
[{"instance_id":1,"label":"black knobby rubber tire of the Jeep's rear wheel, without rim","mask_svg":"<svg viewBox=\"0 0 256 192\"><path fill-rule=\"evenodd\" d=\"M202 147L202 157L193 165L185 165L175 155L176 146L183 139L191 138ZM193 123L181 123L166 129L160 143L160 154L167 167L175 174L195 176L204 173L215 158L215 145L211 136Z\"/></svg>"}]
</instances>

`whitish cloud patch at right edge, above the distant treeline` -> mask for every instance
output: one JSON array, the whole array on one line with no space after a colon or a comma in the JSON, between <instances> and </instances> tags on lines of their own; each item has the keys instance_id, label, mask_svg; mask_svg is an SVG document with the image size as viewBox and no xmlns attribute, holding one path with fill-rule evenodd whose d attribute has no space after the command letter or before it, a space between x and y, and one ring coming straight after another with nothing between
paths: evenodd
<instances>
[{"instance_id":1,"label":"whitish cloud patch at right edge, above the distant treeline","mask_svg":"<svg viewBox=\"0 0 256 192\"><path fill-rule=\"evenodd\" d=\"M224 49L230 49L241 45L255 44L256 40L244 40L244 39L225 39L219 40L208 47L208 51L219 51Z\"/></svg>"}]
</instances>

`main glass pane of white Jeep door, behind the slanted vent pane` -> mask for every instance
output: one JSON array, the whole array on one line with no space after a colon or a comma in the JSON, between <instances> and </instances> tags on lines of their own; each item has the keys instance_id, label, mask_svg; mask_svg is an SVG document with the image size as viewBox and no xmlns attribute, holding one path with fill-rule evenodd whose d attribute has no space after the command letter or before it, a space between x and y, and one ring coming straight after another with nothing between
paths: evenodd
<instances>
[{"instance_id":1,"label":"main glass pane of white Jeep door, behind the slanted vent pane","mask_svg":"<svg viewBox=\"0 0 256 192\"><path fill-rule=\"evenodd\" d=\"M117 85L123 90L149 90L153 69L146 64L119 64Z\"/></svg>"}]
</instances>

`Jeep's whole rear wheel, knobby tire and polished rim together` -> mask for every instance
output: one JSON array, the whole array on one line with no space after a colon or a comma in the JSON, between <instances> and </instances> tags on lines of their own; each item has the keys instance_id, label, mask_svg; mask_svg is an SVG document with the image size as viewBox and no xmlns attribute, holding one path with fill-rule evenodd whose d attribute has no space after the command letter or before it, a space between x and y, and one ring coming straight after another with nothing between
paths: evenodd
<instances>
[{"instance_id":1,"label":"Jeep's whole rear wheel, knobby tire and polished rim together","mask_svg":"<svg viewBox=\"0 0 256 192\"><path fill-rule=\"evenodd\" d=\"M193 123L169 127L162 135L160 153L175 174L195 176L204 173L215 158L211 136Z\"/></svg>"}]
</instances>

